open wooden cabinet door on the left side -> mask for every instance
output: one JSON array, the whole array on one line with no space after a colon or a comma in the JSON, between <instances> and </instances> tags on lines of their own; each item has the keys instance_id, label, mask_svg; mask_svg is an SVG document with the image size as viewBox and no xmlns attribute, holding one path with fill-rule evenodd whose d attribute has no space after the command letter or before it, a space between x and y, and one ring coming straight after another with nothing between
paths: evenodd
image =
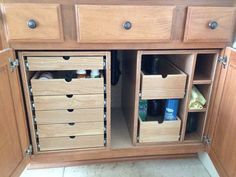
<instances>
[{"instance_id":1,"label":"open wooden cabinet door on the left side","mask_svg":"<svg viewBox=\"0 0 236 177\"><path fill-rule=\"evenodd\" d=\"M29 136L14 54L0 52L0 176L20 176L29 163Z\"/></svg>"}]
</instances>

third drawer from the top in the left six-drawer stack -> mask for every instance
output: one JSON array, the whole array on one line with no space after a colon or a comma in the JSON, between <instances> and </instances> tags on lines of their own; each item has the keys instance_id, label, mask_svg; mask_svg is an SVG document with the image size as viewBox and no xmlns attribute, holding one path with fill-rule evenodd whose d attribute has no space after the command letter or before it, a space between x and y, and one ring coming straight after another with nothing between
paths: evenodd
<instances>
[{"instance_id":1,"label":"third drawer from the top in the left six-drawer stack","mask_svg":"<svg viewBox=\"0 0 236 177\"><path fill-rule=\"evenodd\" d=\"M103 108L104 95L34 96L34 106L35 110Z\"/></svg>"}]
</instances>

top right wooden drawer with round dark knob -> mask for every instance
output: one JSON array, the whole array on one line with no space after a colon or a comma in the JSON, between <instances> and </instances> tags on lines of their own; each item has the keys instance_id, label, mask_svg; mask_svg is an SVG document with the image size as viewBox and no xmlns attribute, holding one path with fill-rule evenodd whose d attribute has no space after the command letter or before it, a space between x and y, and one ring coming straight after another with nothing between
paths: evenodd
<instances>
[{"instance_id":1,"label":"top right wooden drawer with round dark knob","mask_svg":"<svg viewBox=\"0 0 236 177\"><path fill-rule=\"evenodd\" d=\"M230 42L234 24L234 7L188 7L184 41Z\"/></svg>"}]
</instances>

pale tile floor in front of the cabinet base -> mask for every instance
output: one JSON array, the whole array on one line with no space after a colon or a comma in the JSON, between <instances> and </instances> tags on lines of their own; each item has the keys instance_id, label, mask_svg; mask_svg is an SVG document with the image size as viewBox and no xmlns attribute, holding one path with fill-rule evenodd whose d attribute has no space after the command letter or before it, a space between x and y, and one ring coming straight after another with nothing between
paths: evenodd
<instances>
[{"instance_id":1,"label":"pale tile floor in front of the cabinet base","mask_svg":"<svg viewBox=\"0 0 236 177\"><path fill-rule=\"evenodd\" d=\"M21 177L210 177L198 158L26 170Z\"/></svg>"}]
</instances>

